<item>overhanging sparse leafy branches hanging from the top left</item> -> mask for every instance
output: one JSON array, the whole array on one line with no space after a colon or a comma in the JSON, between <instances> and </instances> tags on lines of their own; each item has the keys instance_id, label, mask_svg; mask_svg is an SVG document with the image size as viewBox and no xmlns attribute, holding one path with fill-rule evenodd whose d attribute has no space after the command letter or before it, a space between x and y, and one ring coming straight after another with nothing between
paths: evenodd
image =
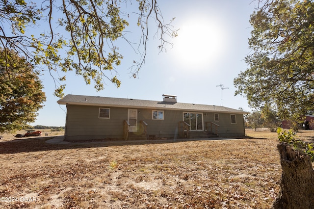
<instances>
[{"instance_id":1,"label":"overhanging sparse leafy branches hanging from the top left","mask_svg":"<svg viewBox=\"0 0 314 209\"><path fill-rule=\"evenodd\" d=\"M156 0L136 2L138 12L130 13L121 10L122 4L125 8L133 6L129 0L44 0L38 5L26 0L0 0L0 48L25 56L33 65L44 65L51 75L53 71L75 71L86 84L94 81L96 90L104 89L105 78L119 87L121 81L112 71L123 56L115 41L125 39L131 45L125 38L130 16L138 17L141 30L137 47L141 58L131 65L134 77L145 61L150 20L157 24L160 51L169 44L166 36L177 36L170 25L173 19L169 24L163 22ZM41 31L39 24L47 25L48 31ZM33 33L27 32L29 27ZM53 79L55 95L62 97L66 76Z\"/></svg>"}]
</instances>

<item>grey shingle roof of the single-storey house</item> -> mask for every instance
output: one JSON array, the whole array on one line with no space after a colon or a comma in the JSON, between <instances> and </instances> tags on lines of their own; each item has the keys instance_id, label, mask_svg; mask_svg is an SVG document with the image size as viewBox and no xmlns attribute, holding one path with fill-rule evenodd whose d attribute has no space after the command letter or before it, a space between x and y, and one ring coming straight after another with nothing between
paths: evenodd
<instances>
[{"instance_id":1,"label":"grey shingle roof of the single-storey house","mask_svg":"<svg viewBox=\"0 0 314 209\"><path fill-rule=\"evenodd\" d=\"M189 104L189 103L169 103L150 100L123 99L111 97L66 95L63 99L57 101L58 104L78 104L78 105L96 105L96 106L119 106L130 108L158 108L158 109L176 109L187 111L208 111L208 112L228 112L238 114L248 114L249 112L224 106L207 104Z\"/></svg>"}]
</instances>

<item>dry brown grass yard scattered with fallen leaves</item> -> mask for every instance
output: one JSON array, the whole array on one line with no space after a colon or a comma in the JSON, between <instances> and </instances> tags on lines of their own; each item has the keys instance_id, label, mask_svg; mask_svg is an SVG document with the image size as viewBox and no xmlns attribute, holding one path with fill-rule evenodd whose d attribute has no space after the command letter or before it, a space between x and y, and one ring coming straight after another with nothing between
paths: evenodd
<instances>
[{"instance_id":1,"label":"dry brown grass yard scattered with fallen leaves","mask_svg":"<svg viewBox=\"0 0 314 209\"><path fill-rule=\"evenodd\" d=\"M267 209L281 176L276 133L247 135L132 145L0 141L0 208Z\"/></svg>"}]
</instances>

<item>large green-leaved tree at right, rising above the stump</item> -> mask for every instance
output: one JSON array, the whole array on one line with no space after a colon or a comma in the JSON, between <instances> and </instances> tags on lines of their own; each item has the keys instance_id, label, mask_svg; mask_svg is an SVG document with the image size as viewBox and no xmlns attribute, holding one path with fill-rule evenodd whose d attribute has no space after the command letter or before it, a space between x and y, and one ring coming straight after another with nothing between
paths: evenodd
<instances>
[{"instance_id":1,"label":"large green-leaved tree at right, rising above the stump","mask_svg":"<svg viewBox=\"0 0 314 209\"><path fill-rule=\"evenodd\" d=\"M245 58L249 68L234 80L235 95L252 107L275 107L282 119L300 120L314 108L314 2L266 0L250 17Z\"/></svg>"}]
</instances>

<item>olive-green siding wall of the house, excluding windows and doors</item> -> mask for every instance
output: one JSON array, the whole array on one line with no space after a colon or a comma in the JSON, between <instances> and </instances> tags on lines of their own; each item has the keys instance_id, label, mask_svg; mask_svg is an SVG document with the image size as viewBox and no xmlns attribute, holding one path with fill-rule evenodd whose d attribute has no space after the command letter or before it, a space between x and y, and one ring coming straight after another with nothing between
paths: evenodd
<instances>
[{"instance_id":1,"label":"olive-green siding wall of the house, excluding windows and doors","mask_svg":"<svg viewBox=\"0 0 314 209\"><path fill-rule=\"evenodd\" d=\"M99 108L110 108L110 119L99 118ZM123 107L110 106L86 106L67 105L67 121L65 138L69 141L105 139L123 139L123 121L128 119L128 109ZM130 108L135 109L135 108ZM145 121L147 135L157 138L177 138L179 122L183 121L182 110L164 111L164 120L153 120L152 111L162 109L137 109L137 122ZM236 115L236 124L231 124L230 113L219 113L219 122L214 121L213 112L203 112L203 129L206 129L206 122L213 122L218 128L219 137L244 136L244 122L242 114Z\"/></svg>"}]
</instances>

